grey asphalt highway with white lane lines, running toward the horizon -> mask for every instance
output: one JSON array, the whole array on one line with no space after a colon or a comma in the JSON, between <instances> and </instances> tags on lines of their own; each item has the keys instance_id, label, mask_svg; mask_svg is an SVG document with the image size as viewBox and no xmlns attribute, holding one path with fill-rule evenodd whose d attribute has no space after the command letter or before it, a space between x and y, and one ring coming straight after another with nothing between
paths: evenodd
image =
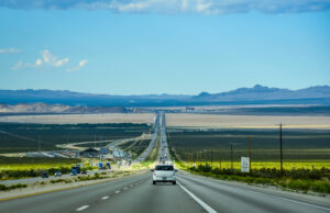
<instances>
[{"instance_id":1,"label":"grey asphalt highway with white lane lines, running toward the horizon","mask_svg":"<svg viewBox=\"0 0 330 213\"><path fill-rule=\"evenodd\" d=\"M160 154L166 157L168 150L164 114L161 119ZM0 201L0 212L318 213L330 212L330 200L329 197L320 198L213 180L193 176L186 171L178 171L177 184L154 186L152 172L146 172L87 187Z\"/></svg>"}]
</instances>

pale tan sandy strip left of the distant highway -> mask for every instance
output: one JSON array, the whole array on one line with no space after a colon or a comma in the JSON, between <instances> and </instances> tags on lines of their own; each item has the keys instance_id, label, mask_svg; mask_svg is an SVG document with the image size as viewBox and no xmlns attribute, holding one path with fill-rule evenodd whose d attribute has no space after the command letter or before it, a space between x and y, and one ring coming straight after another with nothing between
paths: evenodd
<instances>
[{"instance_id":1,"label":"pale tan sandy strip left of the distant highway","mask_svg":"<svg viewBox=\"0 0 330 213\"><path fill-rule=\"evenodd\" d=\"M105 113L105 114L51 114L0 116L0 122L76 124L76 123L147 123L154 122L152 113Z\"/></svg>"}]
</instances>

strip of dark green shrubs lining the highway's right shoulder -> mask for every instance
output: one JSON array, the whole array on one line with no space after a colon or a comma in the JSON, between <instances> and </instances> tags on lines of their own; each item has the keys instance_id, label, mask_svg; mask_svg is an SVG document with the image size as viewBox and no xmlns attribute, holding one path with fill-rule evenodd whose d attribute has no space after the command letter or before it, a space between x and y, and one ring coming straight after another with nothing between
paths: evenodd
<instances>
[{"instance_id":1,"label":"strip of dark green shrubs lining the highway's right shoulder","mask_svg":"<svg viewBox=\"0 0 330 213\"><path fill-rule=\"evenodd\" d=\"M198 167L186 168L196 175L202 175L220 180L234 180L254 184L276 186L284 189L298 190L302 192L315 191L330 193L330 169L253 169L250 173L231 169L212 169L210 165L199 165Z\"/></svg>"}]
</instances>

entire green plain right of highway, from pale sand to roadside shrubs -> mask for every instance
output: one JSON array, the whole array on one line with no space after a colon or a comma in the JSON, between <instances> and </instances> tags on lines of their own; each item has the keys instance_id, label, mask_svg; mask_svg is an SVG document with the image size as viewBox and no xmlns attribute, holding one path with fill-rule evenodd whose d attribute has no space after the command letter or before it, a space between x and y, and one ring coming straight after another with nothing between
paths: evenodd
<instances>
[{"instance_id":1,"label":"entire green plain right of highway, from pale sand to roadside shrubs","mask_svg":"<svg viewBox=\"0 0 330 213\"><path fill-rule=\"evenodd\" d=\"M169 152L178 168L195 175L330 193L330 132L286 131L283 134L283 171L276 131L172 132ZM249 157L249 139L252 170L245 173L240 170L240 158Z\"/></svg>"}]
</instances>

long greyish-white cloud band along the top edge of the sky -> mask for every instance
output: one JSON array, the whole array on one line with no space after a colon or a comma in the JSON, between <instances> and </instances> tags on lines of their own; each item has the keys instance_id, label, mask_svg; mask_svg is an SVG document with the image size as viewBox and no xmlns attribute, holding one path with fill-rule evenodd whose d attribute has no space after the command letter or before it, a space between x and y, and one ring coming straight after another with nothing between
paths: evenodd
<instances>
[{"instance_id":1,"label":"long greyish-white cloud band along the top edge of the sky","mask_svg":"<svg viewBox=\"0 0 330 213\"><path fill-rule=\"evenodd\" d=\"M161 14L228 14L315 12L330 9L330 0L0 0L0 7L44 10L110 10Z\"/></svg>"}]
</instances>

